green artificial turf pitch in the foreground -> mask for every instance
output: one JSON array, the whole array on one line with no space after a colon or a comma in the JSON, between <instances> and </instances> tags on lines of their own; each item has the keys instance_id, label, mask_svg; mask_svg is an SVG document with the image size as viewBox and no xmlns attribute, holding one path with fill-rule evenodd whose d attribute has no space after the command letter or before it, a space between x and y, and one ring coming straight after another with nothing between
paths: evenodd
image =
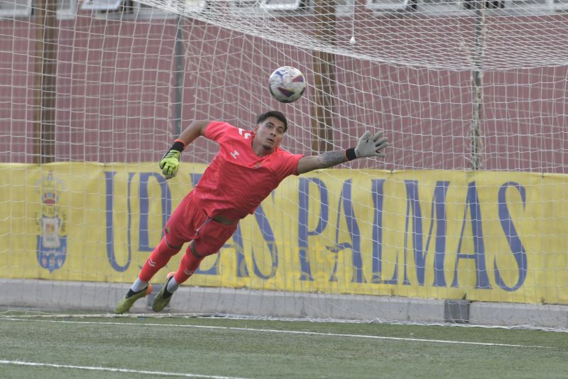
<instances>
[{"instance_id":1,"label":"green artificial turf pitch in the foreground","mask_svg":"<svg viewBox=\"0 0 568 379\"><path fill-rule=\"evenodd\" d=\"M0 317L0 329L0 360L80 366L3 363L2 378L160 376L87 367L172 374L164 378L175 377L173 373L241 378L566 378L568 361L568 334L536 330L180 317L13 321L6 316ZM306 333L290 333L298 331Z\"/></svg>"}]
</instances>

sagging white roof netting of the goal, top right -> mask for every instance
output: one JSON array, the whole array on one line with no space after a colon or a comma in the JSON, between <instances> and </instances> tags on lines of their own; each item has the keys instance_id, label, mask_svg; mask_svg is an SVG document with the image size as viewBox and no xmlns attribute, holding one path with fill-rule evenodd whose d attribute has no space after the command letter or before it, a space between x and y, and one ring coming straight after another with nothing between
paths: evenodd
<instances>
[{"instance_id":1,"label":"sagging white roof netting of the goal, top right","mask_svg":"<svg viewBox=\"0 0 568 379\"><path fill-rule=\"evenodd\" d=\"M211 1L192 11L184 1L143 3L264 40L394 65L503 70L567 62L567 16L548 4L510 1L496 10L484 2L478 11L475 1L469 10L463 1L425 1L387 12L325 0L278 12L246 1Z\"/></svg>"}]
</instances>

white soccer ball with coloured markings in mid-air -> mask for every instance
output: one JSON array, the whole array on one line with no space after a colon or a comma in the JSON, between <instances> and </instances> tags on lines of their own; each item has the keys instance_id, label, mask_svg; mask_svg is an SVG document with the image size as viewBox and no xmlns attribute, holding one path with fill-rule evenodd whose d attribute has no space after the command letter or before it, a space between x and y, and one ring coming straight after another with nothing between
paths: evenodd
<instances>
[{"instance_id":1,"label":"white soccer ball with coloured markings in mid-air","mask_svg":"<svg viewBox=\"0 0 568 379\"><path fill-rule=\"evenodd\" d=\"M291 103L300 99L306 89L306 79L295 67L284 66L275 70L268 79L272 96L282 102Z\"/></svg>"}]
</instances>

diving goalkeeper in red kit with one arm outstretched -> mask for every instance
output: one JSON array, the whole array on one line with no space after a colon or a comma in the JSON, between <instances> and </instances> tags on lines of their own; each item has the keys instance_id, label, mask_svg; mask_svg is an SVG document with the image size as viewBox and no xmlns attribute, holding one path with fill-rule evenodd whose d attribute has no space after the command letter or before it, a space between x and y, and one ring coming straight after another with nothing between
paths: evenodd
<instances>
[{"instance_id":1,"label":"diving goalkeeper in red kit with one arm outstretched","mask_svg":"<svg viewBox=\"0 0 568 379\"><path fill-rule=\"evenodd\" d=\"M383 131L374 136L366 131L355 148L306 157L278 147L287 129L284 114L268 111L257 117L253 131L222 121L195 121L181 133L160 160L166 179L175 177L182 151L199 136L217 142L219 153L165 224L162 240L114 313L127 312L136 300L146 296L155 273L184 243L190 242L178 271L168 274L154 298L153 310L164 309L178 286L195 273L203 258L217 253L231 238L239 220L252 214L288 175L300 175L356 158L385 157L383 149L389 145Z\"/></svg>"}]
</instances>

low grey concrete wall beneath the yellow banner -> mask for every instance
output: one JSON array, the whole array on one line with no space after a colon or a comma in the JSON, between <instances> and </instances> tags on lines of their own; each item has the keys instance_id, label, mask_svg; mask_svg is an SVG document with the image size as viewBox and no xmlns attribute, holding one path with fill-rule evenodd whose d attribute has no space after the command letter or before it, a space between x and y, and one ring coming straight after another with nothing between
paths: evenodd
<instances>
[{"instance_id":1,"label":"low grey concrete wall beneath the yellow banner","mask_svg":"<svg viewBox=\"0 0 568 379\"><path fill-rule=\"evenodd\" d=\"M112 313L128 285L0 279L0 306L65 313ZM153 314L151 300L138 300L132 314ZM241 315L365 322L459 323L568 329L568 306L509 304L367 295L327 295L248 289L180 287L161 314Z\"/></svg>"}]
</instances>

